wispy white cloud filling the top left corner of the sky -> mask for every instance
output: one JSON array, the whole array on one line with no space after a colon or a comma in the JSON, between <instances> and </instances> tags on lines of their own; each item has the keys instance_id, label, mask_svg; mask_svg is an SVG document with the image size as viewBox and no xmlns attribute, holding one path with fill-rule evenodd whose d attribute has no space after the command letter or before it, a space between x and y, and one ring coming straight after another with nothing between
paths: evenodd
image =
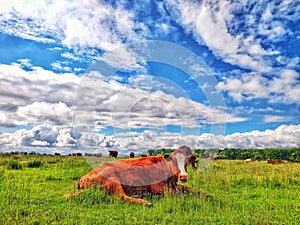
<instances>
[{"instance_id":1,"label":"wispy white cloud filling the top left corner of the sky","mask_svg":"<svg viewBox=\"0 0 300 225\"><path fill-rule=\"evenodd\" d=\"M0 31L35 41L58 39L71 47L112 50L122 39L135 40L139 25L132 17L129 11L96 0L2 1Z\"/></svg>"}]
</instances>

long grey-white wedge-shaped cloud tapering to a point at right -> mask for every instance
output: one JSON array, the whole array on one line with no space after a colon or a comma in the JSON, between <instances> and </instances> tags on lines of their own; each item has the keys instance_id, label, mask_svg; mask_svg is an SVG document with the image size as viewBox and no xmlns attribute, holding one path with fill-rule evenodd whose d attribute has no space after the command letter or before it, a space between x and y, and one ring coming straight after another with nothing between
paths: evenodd
<instances>
[{"instance_id":1,"label":"long grey-white wedge-shaped cloud tapering to a point at right","mask_svg":"<svg viewBox=\"0 0 300 225\"><path fill-rule=\"evenodd\" d=\"M198 127L245 120L188 98L105 82L97 74L86 81L86 77L74 74L32 69L0 65L2 126L79 123L99 128Z\"/></svg>"}]
</instances>

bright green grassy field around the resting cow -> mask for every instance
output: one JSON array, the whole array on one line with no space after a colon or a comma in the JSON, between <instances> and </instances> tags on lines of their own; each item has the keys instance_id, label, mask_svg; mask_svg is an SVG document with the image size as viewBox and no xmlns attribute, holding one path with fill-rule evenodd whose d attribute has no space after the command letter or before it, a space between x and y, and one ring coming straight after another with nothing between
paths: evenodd
<instances>
[{"instance_id":1,"label":"bright green grassy field around the resting cow","mask_svg":"<svg viewBox=\"0 0 300 225\"><path fill-rule=\"evenodd\" d=\"M299 163L221 160L188 168L188 185L213 198L166 195L150 208L99 190L65 198L90 170L83 157L0 155L0 224L300 223Z\"/></svg>"}]
</instances>

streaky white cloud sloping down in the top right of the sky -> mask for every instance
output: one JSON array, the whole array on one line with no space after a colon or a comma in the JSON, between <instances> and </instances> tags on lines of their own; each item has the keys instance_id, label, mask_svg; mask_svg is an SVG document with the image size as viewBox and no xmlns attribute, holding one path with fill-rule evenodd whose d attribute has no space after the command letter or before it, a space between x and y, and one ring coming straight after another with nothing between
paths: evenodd
<instances>
[{"instance_id":1,"label":"streaky white cloud sloping down in the top right of the sky","mask_svg":"<svg viewBox=\"0 0 300 225\"><path fill-rule=\"evenodd\" d=\"M272 70L265 58L280 53L274 50L274 41L290 32L288 23L298 20L300 12L294 1L167 2L172 16L198 43L205 43L225 62L260 72ZM262 40L270 47L264 48Z\"/></svg>"}]
</instances>

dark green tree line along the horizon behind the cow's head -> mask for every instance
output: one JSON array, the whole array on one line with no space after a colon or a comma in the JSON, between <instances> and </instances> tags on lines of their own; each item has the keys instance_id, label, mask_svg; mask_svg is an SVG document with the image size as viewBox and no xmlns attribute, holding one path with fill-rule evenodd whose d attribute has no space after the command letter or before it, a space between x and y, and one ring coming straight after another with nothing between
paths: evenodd
<instances>
[{"instance_id":1,"label":"dark green tree line along the horizon behind the cow's head","mask_svg":"<svg viewBox=\"0 0 300 225\"><path fill-rule=\"evenodd\" d=\"M150 149L147 155L165 155L170 154L174 149ZM300 161L300 148L265 148L265 149L194 149L193 153L200 158L220 157L221 159L245 160L254 158L256 160L281 159L290 161Z\"/></svg>"}]
</instances>

